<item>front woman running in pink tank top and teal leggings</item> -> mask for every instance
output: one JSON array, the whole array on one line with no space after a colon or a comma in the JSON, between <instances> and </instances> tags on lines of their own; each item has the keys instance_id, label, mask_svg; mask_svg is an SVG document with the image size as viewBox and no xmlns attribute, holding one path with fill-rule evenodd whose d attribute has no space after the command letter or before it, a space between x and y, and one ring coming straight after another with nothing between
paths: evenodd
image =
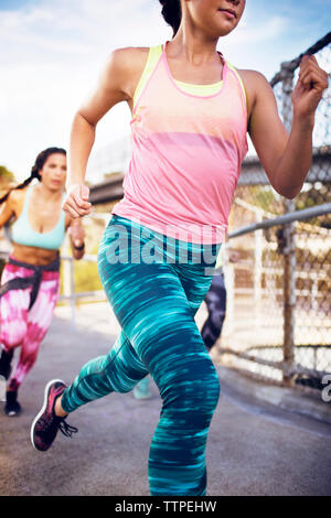
<instances>
[{"instance_id":1,"label":"front woman running in pink tank top and teal leggings","mask_svg":"<svg viewBox=\"0 0 331 518\"><path fill-rule=\"evenodd\" d=\"M125 196L98 250L100 279L121 333L110 353L86 364L72 385L47 384L31 439L46 451L58 429L67 432L70 412L130 391L150 373L162 398L149 454L150 493L200 496L206 494L205 445L220 385L194 314L211 285L246 133L271 185L293 198L309 170L314 112L328 77L314 57L302 58L288 137L266 78L236 69L216 50L220 37L237 26L245 1L161 4L172 40L113 52L72 128L64 209L79 218L90 211L84 179L97 122L120 101L132 114ZM164 245L172 239L169 251ZM150 248L158 260L151 260ZM184 249L188 260L181 261Z\"/></svg>"}]
</instances>

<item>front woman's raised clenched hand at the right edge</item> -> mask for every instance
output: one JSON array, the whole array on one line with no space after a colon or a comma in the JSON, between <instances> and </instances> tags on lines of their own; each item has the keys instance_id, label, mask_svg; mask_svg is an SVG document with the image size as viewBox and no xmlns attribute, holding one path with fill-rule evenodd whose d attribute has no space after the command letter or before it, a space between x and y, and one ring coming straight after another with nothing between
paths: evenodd
<instances>
[{"instance_id":1,"label":"front woman's raised clenched hand at the right edge","mask_svg":"<svg viewBox=\"0 0 331 518\"><path fill-rule=\"evenodd\" d=\"M301 60L299 79L291 96L295 117L313 121L328 83L328 74L320 68L317 58L305 55Z\"/></svg>"}]
</instances>

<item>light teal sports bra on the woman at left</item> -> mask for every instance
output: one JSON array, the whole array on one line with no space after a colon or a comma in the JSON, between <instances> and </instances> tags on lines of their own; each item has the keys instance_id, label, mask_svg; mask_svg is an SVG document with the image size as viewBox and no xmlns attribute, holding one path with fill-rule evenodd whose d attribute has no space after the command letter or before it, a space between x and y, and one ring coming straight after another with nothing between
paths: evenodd
<instances>
[{"instance_id":1,"label":"light teal sports bra on the woman at left","mask_svg":"<svg viewBox=\"0 0 331 518\"><path fill-rule=\"evenodd\" d=\"M33 186L28 187L22 214L11 227L11 239L18 245L25 247L45 248L57 250L65 235L65 214L61 211L61 216L56 226L47 233L38 233L29 224L29 202Z\"/></svg>"}]
</instances>

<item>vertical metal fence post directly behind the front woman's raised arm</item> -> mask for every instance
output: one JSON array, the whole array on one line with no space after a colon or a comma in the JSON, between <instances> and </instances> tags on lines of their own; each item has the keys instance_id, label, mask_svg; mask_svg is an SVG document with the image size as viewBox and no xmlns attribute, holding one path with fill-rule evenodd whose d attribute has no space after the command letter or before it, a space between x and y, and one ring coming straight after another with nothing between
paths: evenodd
<instances>
[{"instance_id":1,"label":"vertical metal fence post directly behind the front woman's raised arm","mask_svg":"<svg viewBox=\"0 0 331 518\"><path fill-rule=\"evenodd\" d=\"M293 71L289 63L281 63L282 73L282 120L287 132L291 130L292 106L291 93L293 89ZM290 171L289 171L290 174ZM285 199L285 213L296 211L293 199ZM296 309L296 224L284 226L284 348L282 348L282 381L291 385L291 367L295 363L295 309Z\"/></svg>"}]
</instances>

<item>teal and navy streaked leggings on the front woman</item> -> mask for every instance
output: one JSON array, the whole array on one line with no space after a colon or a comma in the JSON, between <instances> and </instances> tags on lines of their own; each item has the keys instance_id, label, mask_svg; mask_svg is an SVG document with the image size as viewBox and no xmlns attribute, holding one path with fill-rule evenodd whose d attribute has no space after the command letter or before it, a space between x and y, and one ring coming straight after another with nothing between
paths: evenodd
<instances>
[{"instance_id":1,"label":"teal and navy streaked leggings on the front woman","mask_svg":"<svg viewBox=\"0 0 331 518\"><path fill-rule=\"evenodd\" d=\"M205 445L220 384L194 315L220 246L166 240L117 215L99 245L99 276L121 333L108 355L82 368L62 406L72 412L110 392L128 392L150 373L162 398L149 455L154 496L206 492Z\"/></svg>"}]
</instances>

